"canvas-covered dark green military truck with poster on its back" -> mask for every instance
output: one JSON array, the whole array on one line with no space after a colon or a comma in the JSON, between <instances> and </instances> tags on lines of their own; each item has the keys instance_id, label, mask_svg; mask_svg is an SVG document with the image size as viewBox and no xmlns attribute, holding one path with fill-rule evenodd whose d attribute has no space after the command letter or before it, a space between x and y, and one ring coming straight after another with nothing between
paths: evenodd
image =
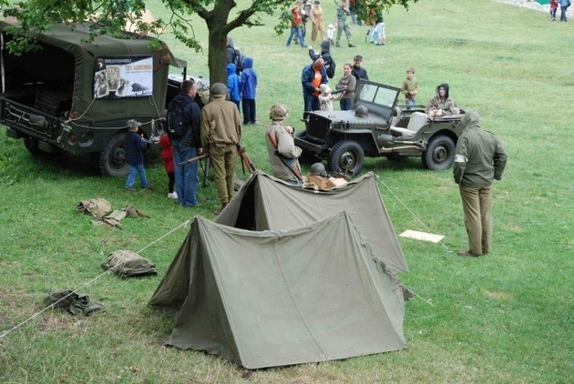
<instances>
[{"instance_id":1,"label":"canvas-covered dark green military truck with poster on its back","mask_svg":"<svg viewBox=\"0 0 574 384\"><path fill-rule=\"evenodd\" d=\"M0 22L5 43L13 38L5 33L10 25ZM129 32L87 43L90 27L53 25L37 36L40 49L22 56L2 45L0 123L33 155L87 155L103 175L121 176L128 172L126 121L141 122L147 138L159 136L181 80L169 78L169 66L185 76L185 62L164 43L151 48L150 37Z\"/></svg>"}]
</instances>

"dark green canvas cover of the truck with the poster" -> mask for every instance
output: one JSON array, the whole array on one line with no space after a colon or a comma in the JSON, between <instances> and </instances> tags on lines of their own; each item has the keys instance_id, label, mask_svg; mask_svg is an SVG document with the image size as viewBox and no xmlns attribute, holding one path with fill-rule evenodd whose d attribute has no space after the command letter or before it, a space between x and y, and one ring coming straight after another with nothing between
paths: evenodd
<instances>
[{"instance_id":1,"label":"dark green canvas cover of the truck with the poster","mask_svg":"<svg viewBox=\"0 0 574 384\"><path fill-rule=\"evenodd\" d=\"M87 43L91 23L53 25L36 36L41 50L14 56L5 49L5 43L11 39L5 34L8 25L17 26L0 21L4 41L0 53L3 95L17 94L24 81L29 86L46 88L47 93L36 92L36 105L52 105L56 109L57 103L67 100L71 117L95 122L95 126L97 121L123 120L126 116L163 116L169 65L182 64L164 43L159 43L161 48L152 49L151 37L128 32L126 39L98 35ZM110 66L108 76L116 76L115 80L108 80L107 89L98 89L106 66ZM121 89L120 77L128 79ZM65 93L67 97L57 96Z\"/></svg>"}]
</instances>

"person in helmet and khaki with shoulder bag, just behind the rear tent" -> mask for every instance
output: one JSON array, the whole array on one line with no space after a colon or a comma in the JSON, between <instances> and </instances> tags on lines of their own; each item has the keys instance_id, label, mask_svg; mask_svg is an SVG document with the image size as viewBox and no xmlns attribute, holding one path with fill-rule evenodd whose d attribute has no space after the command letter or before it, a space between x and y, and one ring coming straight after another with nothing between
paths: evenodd
<instances>
[{"instance_id":1,"label":"person in helmet and khaki with shoulder bag, just behind the rear tent","mask_svg":"<svg viewBox=\"0 0 574 384\"><path fill-rule=\"evenodd\" d=\"M272 125L265 132L267 156L272 167L272 175L292 184L302 183L301 167L298 158L302 149L295 146L292 126L284 126L289 116L289 108L282 104L272 106L269 118Z\"/></svg>"}]
</instances>

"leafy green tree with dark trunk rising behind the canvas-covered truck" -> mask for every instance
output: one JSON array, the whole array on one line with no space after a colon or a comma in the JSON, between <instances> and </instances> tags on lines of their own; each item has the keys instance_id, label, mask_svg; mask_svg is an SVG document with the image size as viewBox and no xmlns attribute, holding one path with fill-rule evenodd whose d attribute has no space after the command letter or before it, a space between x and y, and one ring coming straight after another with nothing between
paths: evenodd
<instances>
[{"instance_id":1,"label":"leafy green tree with dark trunk rising behind the canvas-covered truck","mask_svg":"<svg viewBox=\"0 0 574 384\"><path fill-rule=\"evenodd\" d=\"M333 0L334 1L334 0ZM365 9L381 7L388 9L393 5L408 8L409 2L417 0L380 0L364 3ZM160 36L170 31L181 42L196 52L203 49L195 37L191 15L199 15L206 23L208 37L208 65L211 83L226 83L226 37L235 28L263 25L261 15L279 13L279 23L274 26L281 34L289 25L287 10L293 0L252 0L238 5L234 0L162 0L171 12L169 20L145 22L145 0L21 0L10 2L0 0L5 16L15 17L24 35L16 35L6 48L14 54L22 54L34 49L34 36L49 29L54 23L95 22L92 35L114 35L125 37L121 31L126 25L140 34ZM336 2L335 2L336 3ZM234 11L232 13L232 11ZM7 31L15 35L15 30Z\"/></svg>"}]
</instances>

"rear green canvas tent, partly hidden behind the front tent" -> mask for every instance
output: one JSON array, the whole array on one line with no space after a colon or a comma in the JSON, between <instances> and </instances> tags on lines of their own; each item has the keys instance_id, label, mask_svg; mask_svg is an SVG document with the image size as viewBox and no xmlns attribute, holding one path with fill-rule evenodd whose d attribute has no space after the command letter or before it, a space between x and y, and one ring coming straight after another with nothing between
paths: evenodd
<instances>
[{"instance_id":1,"label":"rear green canvas tent, partly hidden behind the front tent","mask_svg":"<svg viewBox=\"0 0 574 384\"><path fill-rule=\"evenodd\" d=\"M251 230L288 229L331 217L343 209L353 218L376 258L391 270L408 270L373 172L343 187L315 191L257 171L215 222Z\"/></svg>"}]
</instances>

